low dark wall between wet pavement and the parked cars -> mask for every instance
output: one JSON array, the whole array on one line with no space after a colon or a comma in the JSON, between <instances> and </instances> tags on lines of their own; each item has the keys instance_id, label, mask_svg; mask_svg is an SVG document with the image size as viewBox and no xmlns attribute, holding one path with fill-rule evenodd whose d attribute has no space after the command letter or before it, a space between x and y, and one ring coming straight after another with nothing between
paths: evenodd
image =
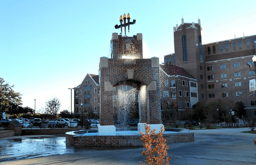
<instances>
[{"instance_id":1,"label":"low dark wall between wet pavement and the parked cars","mask_svg":"<svg viewBox=\"0 0 256 165\"><path fill-rule=\"evenodd\" d=\"M46 129L23 129L22 135L58 135L70 131L79 131L83 128L46 128Z\"/></svg>"}]
</instances>

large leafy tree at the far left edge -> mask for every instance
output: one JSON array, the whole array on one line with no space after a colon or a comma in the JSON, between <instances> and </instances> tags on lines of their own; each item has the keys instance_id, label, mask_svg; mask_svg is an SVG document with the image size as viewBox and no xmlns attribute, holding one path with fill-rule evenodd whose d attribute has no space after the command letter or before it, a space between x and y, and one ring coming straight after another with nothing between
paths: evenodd
<instances>
[{"instance_id":1,"label":"large leafy tree at the far left edge","mask_svg":"<svg viewBox=\"0 0 256 165\"><path fill-rule=\"evenodd\" d=\"M0 113L13 111L22 105L21 94L14 92L14 85L10 86L5 83L3 78L0 78Z\"/></svg>"}]
</instances>

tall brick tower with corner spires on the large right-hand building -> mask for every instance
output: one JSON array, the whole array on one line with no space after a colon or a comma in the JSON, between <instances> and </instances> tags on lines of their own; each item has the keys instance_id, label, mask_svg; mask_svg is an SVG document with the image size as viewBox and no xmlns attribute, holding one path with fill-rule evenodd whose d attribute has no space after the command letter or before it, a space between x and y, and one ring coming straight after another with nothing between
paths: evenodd
<instances>
[{"instance_id":1,"label":"tall brick tower with corner spires on the large right-hand building","mask_svg":"<svg viewBox=\"0 0 256 165\"><path fill-rule=\"evenodd\" d=\"M176 66L184 68L192 76L198 80L198 88L200 88L199 101L206 99L205 85L205 66L202 46L202 27L200 20L198 23L176 24L173 27L174 33L174 49Z\"/></svg>"}]
</instances>

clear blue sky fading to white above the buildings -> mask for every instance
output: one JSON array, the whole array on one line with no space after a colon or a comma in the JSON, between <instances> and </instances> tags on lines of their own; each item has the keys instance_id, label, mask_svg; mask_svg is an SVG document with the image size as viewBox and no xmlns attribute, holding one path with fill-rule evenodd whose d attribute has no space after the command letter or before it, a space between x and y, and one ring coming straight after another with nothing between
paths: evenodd
<instances>
[{"instance_id":1,"label":"clear blue sky fading to white above the buildings","mask_svg":"<svg viewBox=\"0 0 256 165\"><path fill-rule=\"evenodd\" d=\"M115 24L124 13L143 34L143 57L174 53L173 26L197 23L204 43L256 34L256 0L0 0L0 77L36 110L58 97L70 106L70 90L87 73L98 74L109 57ZM72 103L73 104L73 103Z\"/></svg>"}]
</instances>

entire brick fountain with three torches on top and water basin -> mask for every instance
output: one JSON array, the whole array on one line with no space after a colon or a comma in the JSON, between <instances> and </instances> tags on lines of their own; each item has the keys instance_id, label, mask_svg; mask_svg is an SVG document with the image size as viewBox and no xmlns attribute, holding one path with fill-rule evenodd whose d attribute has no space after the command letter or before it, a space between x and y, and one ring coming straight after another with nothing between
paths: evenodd
<instances>
[{"instance_id":1,"label":"entire brick fountain with three torches on top and water basin","mask_svg":"<svg viewBox=\"0 0 256 165\"><path fill-rule=\"evenodd\" d=\"M122 24L122 21L120 17L121 24L115 27L121 27L121 32L122 27L125 27L126 32L126 26L129 29L129 19L126 23L126 15L124 15L125 24ZM135 22L133 20L132 24ZM145 132L145 124L150 125L151 129L156 129L157 132L160 131L162 123L159 58L143 59L141 33L132 37L122 36L122 33L112 34L111 58L100 58L99 86L100 126L97 133L68 132L66 133L68 145L142 146L139 131ZM127 86L130 90L126 91L124 87ZM125 123L130 118L131 108L138 111L137 130L116 131L113 120L119 119L120 122ZM166 132L164 138L170 143L193 141L193 133Z\"/></svg>"}]
</instances>

